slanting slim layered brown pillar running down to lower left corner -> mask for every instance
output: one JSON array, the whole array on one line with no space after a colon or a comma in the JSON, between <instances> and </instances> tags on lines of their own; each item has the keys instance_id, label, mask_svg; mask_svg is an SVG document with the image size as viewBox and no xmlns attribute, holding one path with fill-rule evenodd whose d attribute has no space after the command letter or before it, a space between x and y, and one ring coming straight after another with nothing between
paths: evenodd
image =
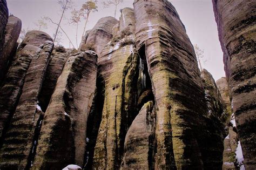
<instances>
[{"instance_id":1,"label":"slanting slim layered brown pillar running down to lower left corner","mask_svg":"<svg viewBox=\"0 0 256 170\"><path fill-rule=\"evenodd\" d=\"M28 169L32 165L43 115L38 94L52 49L53 43L45 41L42 50L32 57L21 98L0 150L1 169Z\"/></svg>"}]
</instances>

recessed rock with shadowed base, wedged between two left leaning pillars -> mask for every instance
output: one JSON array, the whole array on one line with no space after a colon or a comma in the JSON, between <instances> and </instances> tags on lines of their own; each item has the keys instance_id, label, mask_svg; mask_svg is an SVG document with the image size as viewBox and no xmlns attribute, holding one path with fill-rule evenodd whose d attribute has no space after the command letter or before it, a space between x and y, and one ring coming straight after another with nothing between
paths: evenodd
<instances>
[{"instance_id":1,"label":"recessed rock with shadowed base, wedged between two left leaning pillars","mask_svg":"<svg viewBox=\"0 0 256 170\"><path fill-rule=\"evenodd\" d=\"M42 84L42 90L38 97L39 103L41 104L41 108L44 112L50 103L58 77L60 76L60 73L62 73L62 69L69 56L69 52L58 52L56 50L53 50L51 54L49 65L45 73L45 79Z\"/></svg>"}]
</instances>

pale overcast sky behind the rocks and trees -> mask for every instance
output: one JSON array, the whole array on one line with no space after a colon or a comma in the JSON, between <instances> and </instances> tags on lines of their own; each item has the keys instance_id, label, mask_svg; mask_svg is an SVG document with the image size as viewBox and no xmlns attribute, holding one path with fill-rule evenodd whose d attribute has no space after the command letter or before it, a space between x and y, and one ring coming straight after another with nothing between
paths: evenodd
<instances>
[{"instance_id":1,"label":"pale overcast sky behind the rocks and trees","mask_svg":"<svg viewBox=\"0 0 256 170\"><path fill-rule=\"evenodd\" d=\"M98 12L91 14L86 30L92 29L98 19L114 15L114 8L104 9L102 2L98 1ZM60 7L57 0L7 0L9 13L22 20L23 29L38 29L35 23L44 16L49 16L53 21L58 21L60 17ZM76 8L86 2L86 0L73 0ZM187 35L192 44L198 44L200 49L204 50L206 63L203 67L212 73L215 80L225 76L223 64L223 52L221 51L217 25L215 23L212 1L211 0L171 0L170 1L179 13L180 19L186 27ZM133 8L133 0L124 0L123 4L118 6L117 16L120 16L119 10L125 7ZM76 46L76 27L69 24L70 11L65 14L65 20L62 23L63 29L68 33L73 44ZM78 45L83 32L84 22L80 23L78 31ZM56 26L48 24L48 29L43 31L53 35ZM62 34L62 45L69 47L69 40Z\"/></svg>"}]
</instances>

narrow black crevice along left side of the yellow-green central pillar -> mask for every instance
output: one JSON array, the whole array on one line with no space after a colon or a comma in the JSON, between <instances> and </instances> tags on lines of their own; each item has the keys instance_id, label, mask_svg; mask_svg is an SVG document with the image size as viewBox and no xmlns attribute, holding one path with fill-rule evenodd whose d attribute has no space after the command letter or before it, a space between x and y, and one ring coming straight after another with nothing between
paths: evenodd
<instances>
[{"instance_id":1,"label":"narrow black crevice along left side of the yellow-green central pillar","mask_svg":"<svg viewBox=\"0 0 256 170\"><path fill-rule=\"evenodd\" d=\"M103 77L98 74L96 81L95 97L92 101L91 110L87 120L86 128L86 150L83 169L92 169L93 155L98 136L98 130L102 121L102 111L105 99L105 82Z\"/></svg>"}]
</instances>

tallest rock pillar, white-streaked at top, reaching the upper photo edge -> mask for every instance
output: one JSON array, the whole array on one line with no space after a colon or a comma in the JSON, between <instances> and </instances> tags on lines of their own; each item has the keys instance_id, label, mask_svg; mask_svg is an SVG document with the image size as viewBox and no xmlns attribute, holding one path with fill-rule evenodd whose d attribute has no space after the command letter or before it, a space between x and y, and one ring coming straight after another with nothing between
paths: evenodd
<instances>
[{"instance_id":1,"label":"tallest rock pillar, white-streaked at top, reaching the upper photo edge","mask_svg":"<svg viewBox=\"0 0 256 170\"><path fill-rule=\"evenodd\" d=\"M204 91L184 25L167 1L133 5L137 49L144 53L140 57L147 63L157 108L154 168L202 169L202 160L206 168L207 140L199 123L206 123Z\"/></svg>"}]
</instances>

